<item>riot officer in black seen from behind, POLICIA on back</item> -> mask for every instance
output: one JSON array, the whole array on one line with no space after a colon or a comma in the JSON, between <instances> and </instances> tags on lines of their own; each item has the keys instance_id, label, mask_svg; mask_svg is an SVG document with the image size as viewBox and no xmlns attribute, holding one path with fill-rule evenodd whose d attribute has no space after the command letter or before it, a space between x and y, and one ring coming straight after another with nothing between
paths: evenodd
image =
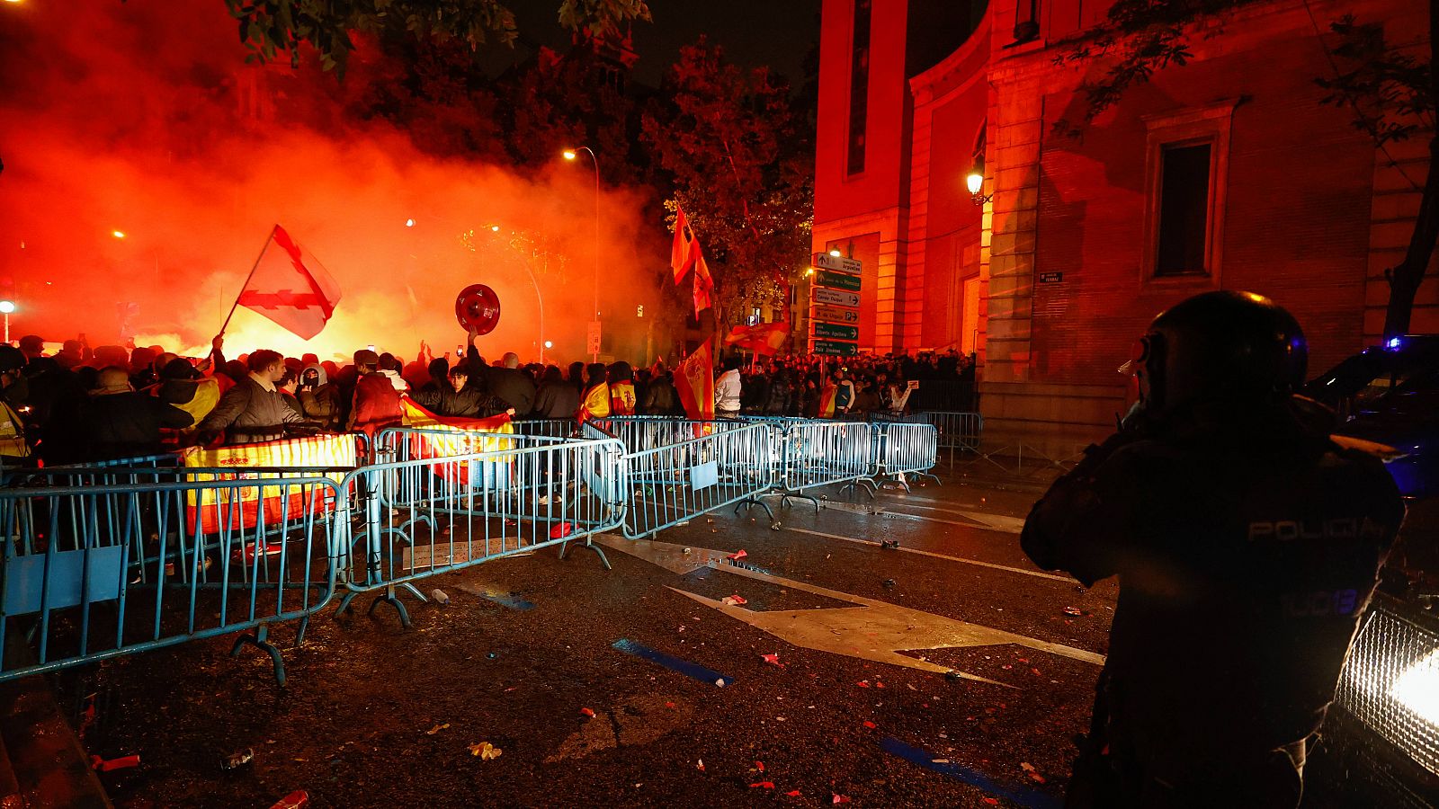
<instances>
[{"instance_id":1,"label":"riot officer in black seen from behind, POLICIA on back","mask_svg":"<svg viewBox=\"0 0 1439 809\"><path fill-rule=\"evenodd\" d=\"M1121 369L1138 403L1029 514L1036 564L1120 579L1069 806L1298 805L1404 512L1373 446L1294 396L1307 353L1261 295L1160 314Z\"/></svg>"}]
</instances>

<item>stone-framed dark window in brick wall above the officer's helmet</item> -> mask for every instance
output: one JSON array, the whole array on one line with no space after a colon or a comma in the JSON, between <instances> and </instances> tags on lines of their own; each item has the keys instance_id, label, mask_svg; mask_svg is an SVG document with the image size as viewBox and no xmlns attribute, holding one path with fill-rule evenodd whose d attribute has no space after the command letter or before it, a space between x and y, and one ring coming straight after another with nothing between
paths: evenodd
<instances>
[{"instance_id":1,"label":"stone-framed dark window in brick wall above the officer's helmet","mask_svg":"<svg viewBox=\"0 0 1439 809\"><path fill-rule=\"evenodd\" d=\"M1235 101L1151 115L1143 276L1219 285Z\"/></svg>"}]
</instances>

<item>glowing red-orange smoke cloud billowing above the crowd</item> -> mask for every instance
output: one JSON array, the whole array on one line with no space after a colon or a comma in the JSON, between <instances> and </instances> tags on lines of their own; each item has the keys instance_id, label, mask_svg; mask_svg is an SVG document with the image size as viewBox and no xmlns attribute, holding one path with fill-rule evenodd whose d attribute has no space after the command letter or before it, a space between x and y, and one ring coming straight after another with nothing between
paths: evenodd
<instances>
[{"instance_id":1,"label":"glowing red-orange smoke cloud billowing above the crowd","mask_svg":"<svg viewBox=\"0 0 1439 809\"><path fill-rule=\"evenodd\" d=\"M584 154L527 174L436 160L387 124L342 115L361 71L335 85L309 66L245 65L219 1L82 6L0 4L0 297L17 305L13 338L85 333L203 354L279 223L342 299L308 343L240 308L230 356L376 344L413 358L420 340L443 354L465 340L456 294L488 284L502 317L479 341L486 357L538 358L543 338L547 360L580 358L597 289L606 351L642 358L636 305L655 311L668 238L642 222L649 191L603 189L596 240Z\"/></svg>"}]
</instances>

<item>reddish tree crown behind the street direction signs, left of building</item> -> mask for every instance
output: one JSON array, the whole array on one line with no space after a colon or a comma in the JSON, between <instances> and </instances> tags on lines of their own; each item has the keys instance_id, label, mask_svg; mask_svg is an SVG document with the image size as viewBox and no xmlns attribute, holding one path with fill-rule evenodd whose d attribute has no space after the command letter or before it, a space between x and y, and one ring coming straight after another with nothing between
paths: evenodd
<instances>
[{"instance_id":1,"label":"reddish tree crown behind the street direction signs, left of building","mask_svg":"<svg viewBox=\"0 0 1439 809\"><path fill-rule=\"evenodd\" d=\"M743 71L704 39L681 49L643 143L673 189L715 278L717 324L777 305L810 249L812 121L767 69Z\"/></svg>"}]
</instances>

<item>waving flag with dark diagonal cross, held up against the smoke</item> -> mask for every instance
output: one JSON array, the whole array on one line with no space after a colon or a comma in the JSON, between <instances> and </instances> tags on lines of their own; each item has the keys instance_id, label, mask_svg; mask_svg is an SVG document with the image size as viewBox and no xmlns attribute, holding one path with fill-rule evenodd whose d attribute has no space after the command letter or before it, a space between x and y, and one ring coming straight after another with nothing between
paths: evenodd
<instances>
[{"instance_id":1,"label":"waving flag with dark diagonal cross, held up against the smoke","mask_svg":"<svg viewBox=\"0 0 1439 809\"><path fill-rule=\"evenodd\" d=\"M309 250L276 225L237 302L309 340L335 314L340 285Z\"/></svg>"}]
</instances>

